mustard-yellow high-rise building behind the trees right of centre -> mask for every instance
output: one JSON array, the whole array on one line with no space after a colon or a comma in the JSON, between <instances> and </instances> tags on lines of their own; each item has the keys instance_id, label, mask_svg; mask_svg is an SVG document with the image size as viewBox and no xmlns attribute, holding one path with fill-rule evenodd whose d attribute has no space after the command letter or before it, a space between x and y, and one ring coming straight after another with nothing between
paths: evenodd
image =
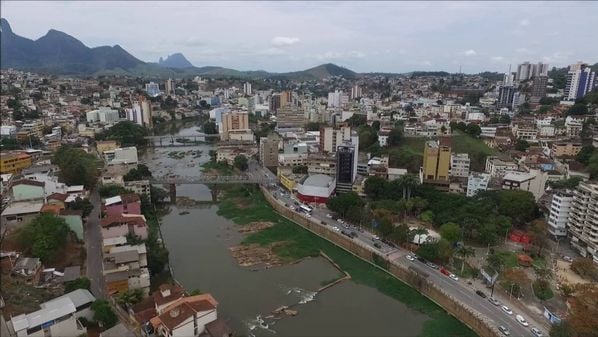
<instances>
[{"instance_id":1,"label":"mustard-yellow high-rise building behind the trees right of centre","mask_svg":"<svg viewBox=\"0 0 598 337\"><path fill-rule=\"evenodd\" d=\"M450 162L451 147L447 138L441 138L439 142L426 142L421 170L422 182L448 189Z\"/></svg>"}]
</instances>

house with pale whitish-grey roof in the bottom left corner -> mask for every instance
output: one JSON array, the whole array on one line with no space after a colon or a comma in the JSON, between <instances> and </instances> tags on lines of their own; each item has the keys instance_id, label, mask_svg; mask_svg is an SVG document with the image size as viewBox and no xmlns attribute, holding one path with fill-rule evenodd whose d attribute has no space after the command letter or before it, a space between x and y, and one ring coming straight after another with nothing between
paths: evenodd
<instances>
[{"instance_id":1,"label":"house with pale whitish-grey roof in the bottom left corner","mask_svg":"<svg viewBox=\"0 0 598 337\"><path fill-rule=\"evenodd\" d=\"M62 297L43 303L42 309L21 314L10 320L17 337L77 337L87 333L87 329L76 317L77 307L70 297Z\"/></svg>"}]
</instances>

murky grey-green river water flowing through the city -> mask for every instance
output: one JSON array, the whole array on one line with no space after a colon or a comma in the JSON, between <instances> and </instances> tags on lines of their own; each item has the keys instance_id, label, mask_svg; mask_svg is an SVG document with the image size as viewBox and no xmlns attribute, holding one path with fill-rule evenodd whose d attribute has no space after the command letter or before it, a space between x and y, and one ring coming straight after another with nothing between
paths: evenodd
<instances>
[{"instance_id":1,"label":"murky grey-green river water flowing through the city","mask_svg":"<svg viewBox=\"0 0 598 337\"><path fill-rule=\"evenodd\" d=\"M197 127L181 128L177 135L192 135ZM153 148L142 160L155 175L200 174L213 145ZM200 157L168 157L171 151L201 150ZM177 197L209 201L204 185L177 187ZM171 206L162 218L162 235L170 251L174 278L185 289L211 293L219 302L218 314L236 335L255 336L417 336L429 319L374 288L349 280L315 296L315 290L340 273L324 258L251 271L238 266L228 247L243 239L238 227L216 214L217 205ZM188 212L186 214L185 212ZM283 305L297 305L294 317L268 316Z\"/></svg>"}]
</instances>

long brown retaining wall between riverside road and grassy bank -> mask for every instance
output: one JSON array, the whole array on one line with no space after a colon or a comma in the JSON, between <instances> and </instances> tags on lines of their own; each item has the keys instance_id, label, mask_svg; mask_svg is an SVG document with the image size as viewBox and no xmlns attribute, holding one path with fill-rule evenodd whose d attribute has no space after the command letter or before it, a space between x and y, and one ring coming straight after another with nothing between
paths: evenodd
<instances>
[{"instance_id":1,"label":"long brown retaining wall between riverside road and grassy bank","mask_svg":"<svg viewBox=\"0 0 598 337\"><path fill-rule=\"evenodd\" d=\"M289 210L288 208L279 204L264 187L261 187L261 189L266 200L278 213L299 224L301 227L313 232L314 234L317 234L318 236L332 242L336 246L341 247L353 255L356 255L376 266L373 262L373 254L369 248L362 246L353 239L349 239L343 235L337 234L336 232L330 231L324 226L316 224L310 219ZM398 266L395 264L390 264L389 270L387 272L412 288L415 288L422 295L441 306L444 310L449 312L449 314L455 316L455 318L469 326L479 336L500 336L500 333L496 329L493 321L487 320L485 316L473 311L465 303L454 299L452 296L445 293L441 288L438 288L435 284L427 281L425 277L420 276L416 272L410 271L403 266Z\"/></svg>"}]
</instances>

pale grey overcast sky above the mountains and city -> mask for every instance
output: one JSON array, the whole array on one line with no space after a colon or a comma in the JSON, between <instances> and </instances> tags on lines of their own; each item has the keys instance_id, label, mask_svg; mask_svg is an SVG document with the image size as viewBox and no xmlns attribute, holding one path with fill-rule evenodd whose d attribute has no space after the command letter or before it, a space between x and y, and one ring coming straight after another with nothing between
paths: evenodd
<instances>
[{"instance_id":1,"label":"pale grey overcast sky above the mountains and city","mask_svg":"<svg viewBox=\"0 0 598 337\"><path fill-rule=\"evenodd\" d=\"M2 1L21 36L49 29L143 61L183 53L195 66L358 72L484 70L598 62L598 2Z\"/></svg>"}]
</instances>

